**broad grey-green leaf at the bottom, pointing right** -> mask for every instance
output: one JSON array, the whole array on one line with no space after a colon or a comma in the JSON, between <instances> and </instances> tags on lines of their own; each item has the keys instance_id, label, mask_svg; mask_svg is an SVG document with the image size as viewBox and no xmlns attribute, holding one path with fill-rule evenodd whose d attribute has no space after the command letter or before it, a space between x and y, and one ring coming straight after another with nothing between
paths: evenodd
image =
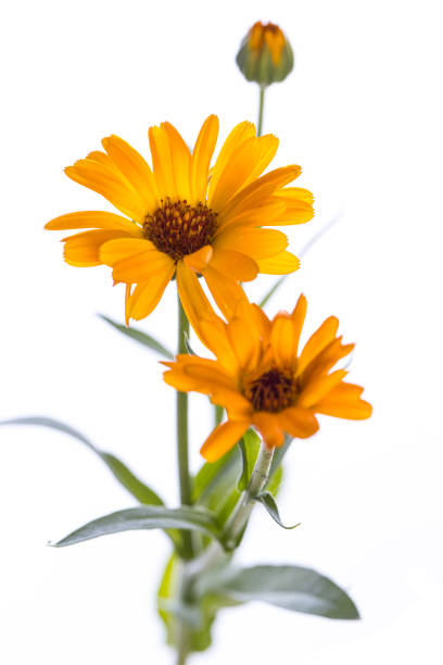
<instances>
[{"instance_id":1,"label":"broad grey-green leaf at the bottom, pointing right","mask_svg":"<svg viewBox=\"0 0 443 665\"><path fill-rule=\"evenodd\" d=\"M266 565L231 568L204 584L205 592L213 591L235 601L262 601L336 619L359 618L354 602L343 589L311 568Z\"/></svg>"}]
</instances>

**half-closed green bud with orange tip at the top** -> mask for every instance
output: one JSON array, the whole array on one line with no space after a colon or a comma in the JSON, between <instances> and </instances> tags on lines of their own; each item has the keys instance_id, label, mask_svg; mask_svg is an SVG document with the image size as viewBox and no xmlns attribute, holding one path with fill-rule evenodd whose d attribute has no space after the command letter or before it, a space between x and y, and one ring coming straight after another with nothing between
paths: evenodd
<instances>
[{"instance_id":1,"label":"half-closed green bud with orange tip at the top","mask_svg":"<svg viewBox=\"0 0 443 665\"><path fill-rule=\"evenodd\" d=\"M284 80L294 66L291 45L281 29L261 21L244 37L236 60L244 77L263 87Z\"/></svg>"}]
</instances>

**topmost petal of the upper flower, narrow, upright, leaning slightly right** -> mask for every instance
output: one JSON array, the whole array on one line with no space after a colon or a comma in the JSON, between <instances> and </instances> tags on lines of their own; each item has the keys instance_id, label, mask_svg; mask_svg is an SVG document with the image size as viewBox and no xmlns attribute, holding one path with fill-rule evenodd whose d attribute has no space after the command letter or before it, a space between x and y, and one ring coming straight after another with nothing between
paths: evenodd
<instances>
[{"instance_id":1,"label":"topmost petal of the upper flower, narrow, upright, leaning slightly right","mask_svg":"<svg viewBox=\"0 0 443 665\"><path fill-rule=\"evenodd\" d=\"M206 201L207 178L211 159L218 136L218 117L210 115L197 137L191 160L191 190L193 201Z\"/></svg>"}]
</instances>

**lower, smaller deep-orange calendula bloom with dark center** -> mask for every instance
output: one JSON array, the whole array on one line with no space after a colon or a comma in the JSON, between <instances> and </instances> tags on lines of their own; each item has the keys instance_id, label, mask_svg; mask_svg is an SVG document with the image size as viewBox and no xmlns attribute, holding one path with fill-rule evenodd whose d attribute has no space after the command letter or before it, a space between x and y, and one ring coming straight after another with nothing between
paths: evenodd
<instances>
[{"instance_id":1,"label":"lower, smaller deep-orange calendula bloom with dark center","mask_svg":"<svg viewBox=\"0 0 443 665\"><path fill-rule=\"evenodd\" d=\"M201 321L199 336L216 360L178 355L165 362L164 379L180 391L208 394L226 407L228 421L214 429L202 447L210 462L218 460L252 425L268 448L281 446L284 432L307 438L318 429L315 414L368 418L371 406L360 399L363 388L347 384L344 369L332 371L354 344L337 337L339 321L327 318L299 353L306 314L301 296L294 311L273 321L257 306L239 303L224 323L213 315Z\"/></svg>"}]
</instances>

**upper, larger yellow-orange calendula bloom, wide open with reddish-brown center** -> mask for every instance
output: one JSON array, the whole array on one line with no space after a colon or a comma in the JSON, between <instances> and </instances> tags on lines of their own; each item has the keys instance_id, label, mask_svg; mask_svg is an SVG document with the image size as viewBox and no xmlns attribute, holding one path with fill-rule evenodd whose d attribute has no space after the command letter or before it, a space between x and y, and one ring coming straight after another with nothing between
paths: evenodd
<instances>
[{"instance_id":1,"label":"upper, larger yellow-orange calendula bloom, wide open with reddish-brown center","mask_svg":"<svg viewBox=\"0 0 443 665\"><path fill-rule=\"evenodd\" d=\"M312 218L311 192L286 187L300 175L300 166L262 175L278 139L258 138L254 125L243 122L229 134L211 167L217 135L218 118L211 115L191 152L173 125L163 123L149 129L152 168L123 139L110 136L102 141L105 152L91 152L65 170L126 216L76 212L52 219L46 228L89 229L64 239L65 261L81 267L111 266L114 281L126 284L126 321L148 316L174 276L194 325L205 312L211 315L198 276L229 316L235 303L245 298L240 281L299 267L296 256L286 251L286 235L262 227Z\"/></svg>"}]
</instances>

